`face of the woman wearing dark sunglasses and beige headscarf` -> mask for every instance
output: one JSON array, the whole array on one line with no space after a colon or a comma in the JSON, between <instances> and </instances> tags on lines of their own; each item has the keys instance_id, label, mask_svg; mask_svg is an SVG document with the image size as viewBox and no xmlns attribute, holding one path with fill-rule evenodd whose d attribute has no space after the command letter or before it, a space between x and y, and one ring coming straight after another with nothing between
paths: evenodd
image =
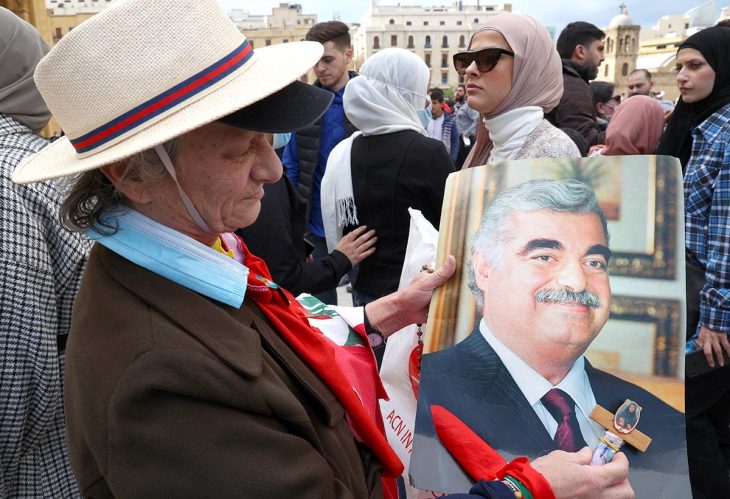
<instances>
[{"instance_id":1,"label":"face of the woman wearing dark sunglasses and beige headscarf","mask_svg":"<svg viewBox=\"0 0 730 499\"><path fill-rule=\"evenodd\" d=\"M504 36L497 31L480 31L472 39L470 51L485 48L502 48L512 51ZM502 103L512 90L512 70L514 57L502 56L491 71L482 73L472 62L464 74L464 84L468 95L469 107L482 114L489 114Z\"/></svg>"}]
</instances>

